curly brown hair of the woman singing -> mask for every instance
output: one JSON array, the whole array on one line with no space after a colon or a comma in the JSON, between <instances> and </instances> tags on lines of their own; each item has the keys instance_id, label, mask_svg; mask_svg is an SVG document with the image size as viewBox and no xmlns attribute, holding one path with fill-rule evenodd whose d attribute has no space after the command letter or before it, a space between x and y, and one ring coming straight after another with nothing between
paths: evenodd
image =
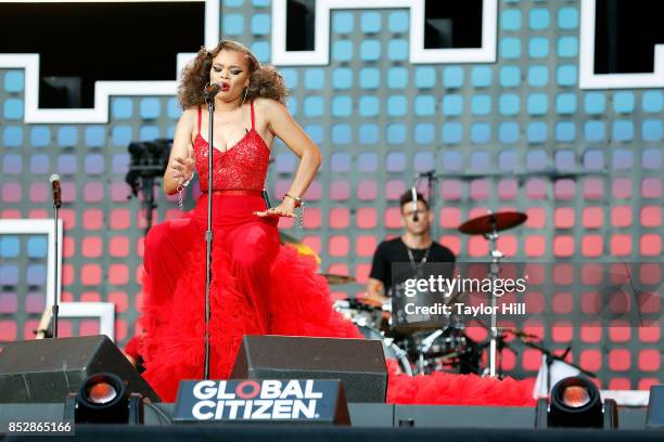
<instances>
[{"instance_id":1,"label":"curly brown hair of the woman singing","mask_svg":"<svg viewBox=\"0 0 664 442\"><path fill-rule=\"evenodd\" d=\"M224 50L244 53L244 61L250 73L247 101L263 96L285 104L289 90L281 74L271 65L261 65L256 55L244 44L232 40L221 40L212 51L204 47L201 48L195 58L182 69L182 77L178 84L178 101L183 109L205 103L203 90L209 82L213 58Z\"/></svg>"}]
</instances>

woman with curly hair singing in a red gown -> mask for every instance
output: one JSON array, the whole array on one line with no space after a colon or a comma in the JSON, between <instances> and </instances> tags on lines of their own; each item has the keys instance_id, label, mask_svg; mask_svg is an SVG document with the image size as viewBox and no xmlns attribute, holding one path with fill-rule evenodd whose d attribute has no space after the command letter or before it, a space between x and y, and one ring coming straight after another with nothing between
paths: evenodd
<instances>
[{"instance_id":1,"label":"woman with curly hair singing in a red gown","mask_svg":"<svg viewBox=\"0 0 664 442\"><path fill-rule=\"evenodd\" d=\"M208 183L208 113L215 96L213 188ZM279 217L295 217L321 156L283 105L286 88L244 46L222 40L184 69L164 190L182 191L194 170L203 194L183 218L155 225L145 238L139 352L143 376L164 401L184 378L202 378L205 336L207 198L213 198L210 378L230 375L243 335L360 337L332 309L312 259L279 243ZM295 179L276 208L261 197L270 147L279 136L298 157Z\"/></svg>"}]
</instances>

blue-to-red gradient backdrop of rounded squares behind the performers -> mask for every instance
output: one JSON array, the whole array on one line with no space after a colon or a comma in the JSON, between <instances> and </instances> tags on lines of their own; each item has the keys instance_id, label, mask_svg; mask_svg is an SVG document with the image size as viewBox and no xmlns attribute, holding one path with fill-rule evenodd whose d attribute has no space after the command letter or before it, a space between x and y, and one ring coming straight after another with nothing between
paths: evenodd
<instances>
[{"instance_id":1,"label":"blue-to-red gradient backdrop of rounded squares behind the performers","mask_svg":"<svg viewBox=\"0 0 664 442\"><path fill-rule=\"evenodd\" d=\"M220 9L221 35L270 62L270 1L224 0ZM507 260L662 261L664 92L579 88L580 0L499 1L496 63L411 64L409 13L333 10L329 65L281 68L289 108L324 160L305 195L304 230L290 220L280 227L320 255L321 271L357 277L334 286L335 297L362 296L376 245L400 232L398 196L432 168L444 177L438 238L460 261L487 256L484 238L457 232L487 209L528 216L500 237ZM28 125L25 87L23 69L0 69L0 218L51 218L48 178L62 177L62 299L114 303L122 346L141 304L145 225L140 202L128 199L127 146L171 138L181 110L175 96L114 95L108 123ZM297 158L280 143L272 156L276 198ZM193 187L186 207L200 194ZM156 185L155 197L155 222L180 214ZM33 337L47 249L39 235L0 238L0 340ZM61 324L63 336L99 329L86 318ZM561 312L524 327L556 351L572 346L570 360L597 370L604 388L664 380L660 322L571 327ZM503 355L508 374L539 367L535 351Z\"/></svg>"}]
</instances>

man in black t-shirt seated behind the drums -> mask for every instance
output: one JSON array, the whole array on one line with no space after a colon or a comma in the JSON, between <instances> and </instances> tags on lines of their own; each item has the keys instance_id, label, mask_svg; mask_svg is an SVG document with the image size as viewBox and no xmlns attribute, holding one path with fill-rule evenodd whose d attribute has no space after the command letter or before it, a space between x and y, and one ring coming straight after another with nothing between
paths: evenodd
<instances>
[{"instance_id":1,"label":"man in black t-shirt seated behind the drums","mask_svg":"<svg viewBox=\"0 0 664 442\"><path fill-rule=\"evenodd\" d=\"M413 269L425 262L455 262L451 250L431 237L434 213L424 196L417 193L413 198L411 192L406 192L399 198L399 206L404 233L378 246L367 283L367 298L381 303L385 302L392 292L393 262L410 263ZM412 276L414 275L408 275Z\"/></svg>"}]
</instances>

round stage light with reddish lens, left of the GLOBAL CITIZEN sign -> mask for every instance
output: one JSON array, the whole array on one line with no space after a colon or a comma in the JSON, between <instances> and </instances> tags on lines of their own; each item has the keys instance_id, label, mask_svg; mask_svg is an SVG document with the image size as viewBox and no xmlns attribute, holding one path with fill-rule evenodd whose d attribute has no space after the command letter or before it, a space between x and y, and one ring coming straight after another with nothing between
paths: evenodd
<instances>
[{"instance_id":1,"label":"round stage light with reddish lens, left of the GLOBAL CITIZEN sign","mask_svg":"<svg viewBox=\"0 0 664 442\"><path fill-rule=\"evenodd\" d=\"M143 398L131 393L111 373L88 377L77 393L67 396L65 420L76 424L143 424Z\"/></svg>"}]
</instances>

